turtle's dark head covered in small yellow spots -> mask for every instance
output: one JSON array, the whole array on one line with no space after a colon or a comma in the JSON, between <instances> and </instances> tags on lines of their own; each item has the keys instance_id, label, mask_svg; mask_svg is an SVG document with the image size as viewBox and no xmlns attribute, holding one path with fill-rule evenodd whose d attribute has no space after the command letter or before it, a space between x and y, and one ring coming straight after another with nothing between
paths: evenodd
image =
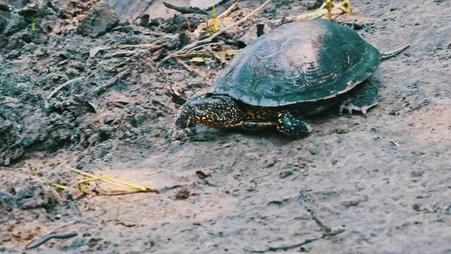
<instances>
[{"instance_id":1,"label":"turtle's dark head covered in small yellow spots","mask_svg":"<svg viewBox=\"0 0 451 254\"><path fill-rule=\"evenodd\" d=\"M186 102L176 118L178 128L201 123L214 128L230 128L243 121L243 112L235 99L227 95L196 95Z\"/></svg>"}]
</instances>

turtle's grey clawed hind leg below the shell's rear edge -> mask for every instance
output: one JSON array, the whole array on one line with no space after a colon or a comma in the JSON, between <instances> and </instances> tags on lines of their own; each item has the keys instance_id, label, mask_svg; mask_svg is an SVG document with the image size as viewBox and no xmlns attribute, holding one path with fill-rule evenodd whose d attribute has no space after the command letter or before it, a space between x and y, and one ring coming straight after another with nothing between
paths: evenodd
<instances>
[{"instance_id":1,"label":"turtle's grey clawed hind leg below the shell's rear edge","mask_svg":"<svg viewBox=\"0 0 451 254\"><path fill-rule=\"evenodd\" d=\"M352 114L352 111L359 111L366 116L368 109L378 104L378 87L372 83L363 83L351 90L342 102L339 113L344 110Z\"/></svg>"}]
</instances>

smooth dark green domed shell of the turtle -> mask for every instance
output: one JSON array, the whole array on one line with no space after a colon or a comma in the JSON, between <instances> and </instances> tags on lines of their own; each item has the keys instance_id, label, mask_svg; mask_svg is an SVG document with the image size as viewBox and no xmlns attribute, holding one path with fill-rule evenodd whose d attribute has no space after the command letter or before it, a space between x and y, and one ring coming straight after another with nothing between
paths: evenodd
<instances>
[{"instance_id":1,"label":"smooth dark green domed shell of the turtle","mask_svg":"<svg viewBox=\"0 0 451 254\"><path fill-rule=\"evenodd\" d=\"M262 107L315 102L351 90L379 63L378 49L344 25L289 23L236 54L210 93Z\"/></svg>"}]
</instances>

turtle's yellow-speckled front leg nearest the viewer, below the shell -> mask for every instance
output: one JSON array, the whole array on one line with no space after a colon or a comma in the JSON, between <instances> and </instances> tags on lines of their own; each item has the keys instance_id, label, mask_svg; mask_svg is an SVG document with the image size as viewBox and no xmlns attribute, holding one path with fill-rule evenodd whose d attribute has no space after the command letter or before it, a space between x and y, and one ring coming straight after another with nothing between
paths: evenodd
<instances>
[{"instance_id":1,"label":"turtle's yellow-speckled front leg nearest the viewer, below the shell","mask_svg":"<svg viewBox=\"0 0 451 254\"><path fill-rule=\"evenodd\" d=\"M277 130L294 138L302 138L313 131L308 123L294 117L290 111L283 110L277 114Z\"/></svg>"}]
</instances>

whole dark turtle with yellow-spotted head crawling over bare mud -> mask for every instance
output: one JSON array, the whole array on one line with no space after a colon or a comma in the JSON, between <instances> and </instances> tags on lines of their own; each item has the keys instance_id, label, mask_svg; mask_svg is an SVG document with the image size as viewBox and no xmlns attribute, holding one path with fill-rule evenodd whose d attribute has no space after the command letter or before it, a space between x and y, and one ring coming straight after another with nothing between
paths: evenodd
<instances>
[{"instance_id":1,"label":"whole dark turtle with yellow-spotted head crawling over bare mud","mask_svg":"<svg viewBox=\"0 0 451 254\"><path fill-rule=\"evenodd\" d=\"M341 102L340 114L378 104L378 89L365 81L386 54L346 25L330 20L287 23L242 49L210 90L179 109L177 128L201 123L212 128L257 131L276 126L294 138L313 130L303 116Z\"/></svg>"}]
</instances>

